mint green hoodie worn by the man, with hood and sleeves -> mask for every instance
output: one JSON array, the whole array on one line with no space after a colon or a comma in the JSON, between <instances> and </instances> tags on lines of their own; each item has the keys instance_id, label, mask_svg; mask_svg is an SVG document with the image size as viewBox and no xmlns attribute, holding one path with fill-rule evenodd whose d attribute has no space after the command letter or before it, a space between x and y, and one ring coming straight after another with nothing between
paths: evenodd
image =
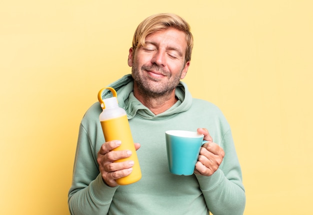
<instances>
[{"instance_id":1,"label":"mint green hoodie worn by the man, with hood and sleeves","mask_svg":"<svg viewBox=\"0 0 313 215\"><path fill-rule=\"evenodd\" d=\"M245 193L241 169L230 127L212 103L191 97L180 82L178 101L166 111L153 114L133 95L133 79L125 75L109 86L117 91L118 105L126 110L137 150L142 177L129 185L107 186L99 174L97 152L105 142L99 114L94 103L83 116L68 192L71 214L242 214ZM102 98L110 97L104 91ZM225 152L219 169L211 176L174 175L168 170L165 131L208 129L213 141Z\"/></svg>"}]
</instances>

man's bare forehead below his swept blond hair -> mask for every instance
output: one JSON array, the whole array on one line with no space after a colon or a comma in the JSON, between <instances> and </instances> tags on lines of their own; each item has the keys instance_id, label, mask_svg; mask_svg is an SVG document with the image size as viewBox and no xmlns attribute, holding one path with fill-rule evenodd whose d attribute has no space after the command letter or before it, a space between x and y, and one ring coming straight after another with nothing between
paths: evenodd
<instances>
[{"instance_id":1,"label":"man's bare forehead below his swept blond hair","mask_svg":"<svg viewBox=\"0 0 313 215\"><path fill-rule=\"evenodd\" d=\"M176 28L158 30L145 37L145 42L158 46L174 47L181 51L187 47L186 34Z\"/></svg>"}]
</instances>

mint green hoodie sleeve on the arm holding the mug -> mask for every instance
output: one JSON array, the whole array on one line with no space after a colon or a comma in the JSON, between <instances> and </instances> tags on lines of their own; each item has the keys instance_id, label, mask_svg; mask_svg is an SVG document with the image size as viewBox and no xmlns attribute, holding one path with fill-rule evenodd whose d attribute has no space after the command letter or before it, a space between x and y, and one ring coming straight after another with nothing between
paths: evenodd
<instances>
[{"instance_id":1,"label":"mint green hoodie sleeve on the arm holding the mug","mask_svg":"<svg viewBox=\"0 0 313 215\"><path fill-rule=\"evenodd\" d=\"M207 208L214 215L243 214L245 192L230 129L221 140L225 156L211 176L196 174Z\"/></svg>"}]
</instances>

